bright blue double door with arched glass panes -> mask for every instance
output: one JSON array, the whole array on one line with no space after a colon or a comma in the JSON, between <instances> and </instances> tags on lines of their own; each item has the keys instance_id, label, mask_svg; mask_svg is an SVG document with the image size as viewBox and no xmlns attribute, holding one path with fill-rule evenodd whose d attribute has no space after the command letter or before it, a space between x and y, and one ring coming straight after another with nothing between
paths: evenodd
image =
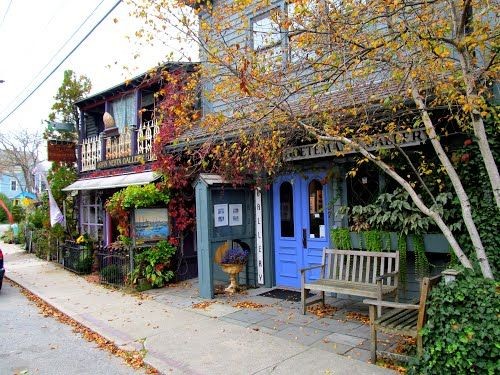
<instances>
[{"instance_id":1,"label":"bright blue double door with arched glass panes","mask_svg":"<svg viewBox=\"0 0 500 375\"><path fill-rule=\"evenodd\" d=\"M299 288L300 269L321 263L328 246L328 189L322 173L287 175L273 186L276 284ZM308 273L318 277L319 270Z\"/></svg>"}]
</instances>

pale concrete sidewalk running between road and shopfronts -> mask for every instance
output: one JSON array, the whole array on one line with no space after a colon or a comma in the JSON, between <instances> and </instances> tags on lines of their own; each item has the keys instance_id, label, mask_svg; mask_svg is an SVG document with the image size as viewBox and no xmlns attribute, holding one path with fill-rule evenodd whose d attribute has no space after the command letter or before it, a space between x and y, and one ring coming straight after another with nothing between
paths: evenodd
<instances>
[{"instance_id":1,"label":"pale concrete sidewalk running between road and shopfronts","mask_svg":"<svg viewBox=\"0 0 500 375\"><path fill-rule=\"evenodd\" d=\"M146 363L161 373L393 373L191 308L140 300L88 283L56 264L26 254L17 245L2 244L2 249L8 278L118 346L134 350L144 345Z\"/></svg>"}]
</instances>

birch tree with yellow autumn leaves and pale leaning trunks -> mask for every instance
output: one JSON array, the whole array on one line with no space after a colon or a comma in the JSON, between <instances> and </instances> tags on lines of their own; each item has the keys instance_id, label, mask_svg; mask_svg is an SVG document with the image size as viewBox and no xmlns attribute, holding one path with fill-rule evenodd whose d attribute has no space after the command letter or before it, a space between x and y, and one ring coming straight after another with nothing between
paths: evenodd
<instances>
[{"instance_id":1,"label":"birch tree with yellow autumn leaves and pale leaning trunks","mask_svg":"<svg viewBox=\"0 0 500 375\"><path fill-rule=\"evenodd\" d=\"M484 124L493 121L498 131L491 105L498 90L497 2L131 2L145 21L142 35L161 38L170 23L200 46L199 127L211 135L211 157L222 171L272 177L283 166L279 156L286 147L306 139L342 142L339 155L356 151L393 178L434 220L462 265L472 268L419 173L415 181L401 175L372 147L380 134L403 136L423 127L436 169L460 202L482 274L493 278L470 199L443 140L450 132L474 134L498 212L500 177ZM177 142L190 149L189 140Z\"/></svg>"}]
</instances>

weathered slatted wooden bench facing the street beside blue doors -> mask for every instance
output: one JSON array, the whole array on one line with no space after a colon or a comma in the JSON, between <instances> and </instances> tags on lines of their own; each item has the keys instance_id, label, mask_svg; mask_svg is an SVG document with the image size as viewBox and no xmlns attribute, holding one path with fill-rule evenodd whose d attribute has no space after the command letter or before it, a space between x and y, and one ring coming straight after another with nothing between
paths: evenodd
<instances>
[{"instance_id":1,"label":"weathered slatted wooden bench facing the street beside blue doors","mask_svg":"<svg viewBox=\"0 0 500 375\"><path fill-rule=\"evenodd\" d=\"M317 280L306 282L306 272L320 268ZM300 270L302 278L302 313L314 303L325 304L325 292L341 293L382 300L394 294L398 300L399 252L323 249L320 265ZM320 297L307 298L309 290ZM379 315L381 308L379 309Z\"/></svg>"}]
</instances>

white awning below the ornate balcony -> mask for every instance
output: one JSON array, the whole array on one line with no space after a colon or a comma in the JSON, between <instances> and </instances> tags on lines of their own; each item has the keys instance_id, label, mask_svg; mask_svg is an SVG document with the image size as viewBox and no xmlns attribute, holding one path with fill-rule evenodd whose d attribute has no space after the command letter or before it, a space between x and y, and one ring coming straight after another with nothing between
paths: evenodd
<instances>
[{"instance_id":1,"label":"white awning below the ornate balcony","mask_svg":"<svg viewBox=\"0 0 500 375\"><path fill-rule=\"evenodd\" d=\"M158 179L154 172L141 172L125 174L120 176L99 177L91 179L81 179L66 186L63 191L72 190L102 190L124 187L129 185L144 185Z\"/></svg>"}]
</instances>

